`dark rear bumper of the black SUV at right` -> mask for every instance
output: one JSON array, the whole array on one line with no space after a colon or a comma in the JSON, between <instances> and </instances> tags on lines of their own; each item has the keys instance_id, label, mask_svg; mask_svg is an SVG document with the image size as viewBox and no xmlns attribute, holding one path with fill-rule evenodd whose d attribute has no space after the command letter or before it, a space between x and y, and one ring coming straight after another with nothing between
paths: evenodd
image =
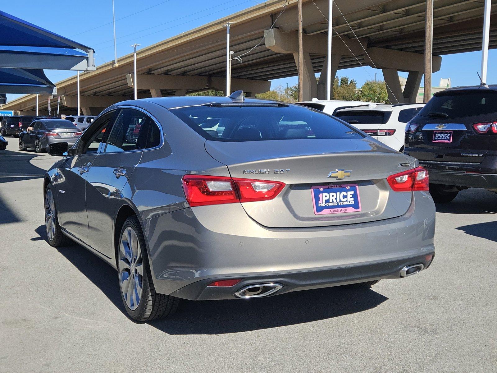
<instances>
[{"instance_id":1,"label":"dark rear bumper of the black SUV at right","mask_svg":"<svg viewBox=\"0 0 497 373\"><path fill-rule=\"evenodd\" d=\"M497 190L497 174L468 174L464 171L428 169L430 183Z\"/></svg>"}]
</instances>

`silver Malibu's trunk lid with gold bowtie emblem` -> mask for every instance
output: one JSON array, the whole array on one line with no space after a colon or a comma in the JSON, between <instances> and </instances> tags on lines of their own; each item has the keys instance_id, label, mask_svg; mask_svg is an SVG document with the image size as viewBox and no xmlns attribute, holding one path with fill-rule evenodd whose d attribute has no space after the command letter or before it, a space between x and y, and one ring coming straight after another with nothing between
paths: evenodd
<instances>
[{"instance_id":1,"label":"silver Malibu's trunk lid with gold bowtie emblem","mask_svg":"<svg viewBox=\"0 0 497 373\"><path fill-rule=\"evenodd\" d=\"M228 166L233 178L286 184L274 199L242 203L247 214L266 227L319 227L388 219L403 215L411 204L412 193L394 192L386 178L414 168L416 161L367 138L206 141L205 148ZM353 206L320 207L323 193L334 190L345 192L342 196L355 190L357 200L354 195ZM329 194L333 193L327 194L325 201L330 202ZM346 202L344 198L336 201L342 202ZM331 210L333 213L328 213Z\"/></svg>"}]
</instances>

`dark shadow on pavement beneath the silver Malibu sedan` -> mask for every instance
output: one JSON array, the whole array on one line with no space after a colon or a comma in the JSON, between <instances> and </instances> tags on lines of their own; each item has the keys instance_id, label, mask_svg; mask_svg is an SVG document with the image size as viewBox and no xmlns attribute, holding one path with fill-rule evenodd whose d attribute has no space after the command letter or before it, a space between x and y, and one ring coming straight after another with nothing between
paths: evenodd
<instances>
[{"instance_id":1,"label":"dark shadow on pavement beneath the silver Malibu sedan","mask_svg":"<svg viewBox=\"0 0 497 373\"><path fill-rule=\"evenodd\" d=\"M46 240L44 225L35 232L39 237L31 240ZM57 250L126 314L113 268L80 245ZM371 288L322 288L250 300L182 299L176 314L150 325L171 335L237 333L348 315L374 308L386 300Z\"/></svg>"}]
</instances>

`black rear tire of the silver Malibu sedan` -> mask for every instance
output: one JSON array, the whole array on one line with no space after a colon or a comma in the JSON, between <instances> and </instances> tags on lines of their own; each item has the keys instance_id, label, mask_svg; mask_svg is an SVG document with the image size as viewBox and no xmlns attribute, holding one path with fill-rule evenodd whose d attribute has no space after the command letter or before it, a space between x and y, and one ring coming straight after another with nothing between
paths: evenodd
<instances>
[{"instance_id":1,"label":"black rear tire of the silver Malibu sedan","mask_svg":"<svg viewBox=\"0 0 497 373\"><path fill-rule=\"evenodd\" d=\"M123 224L123 227L121 228L121 234L119 235L119 240L121 240L121 237L123 236L125 229L128 227L131 227L135 231L138 237L138 241L140 243L141 258L143 263L142 264L143 277L142 277L142 294L141 294L142 296L140 298L137 308L133 310L130 307L128 307L121 286L121 278L120 278L121 272L119 269L120 251L118 248L116 255L117 256L116 261L118 262L117 263L118 285L119 285L119 292L121 293L121 299L124 304L124 308L126 309L126 312L128 313L129 317L131 317L133 320L141 322L157 320L166 316L170 316L174 312L176 312L176 309L179 304L179 298L170 295L159 294L158 292L156 292L154 287L154 281L152 280L152 275L150 271L147 249L145 246L145 238L142 233L140 222L138 221L138 218L136 216L130 216L129 218L126 219L126 221ZM118 244L120 244L120 241Z\"/></svg>"}]
</instances>

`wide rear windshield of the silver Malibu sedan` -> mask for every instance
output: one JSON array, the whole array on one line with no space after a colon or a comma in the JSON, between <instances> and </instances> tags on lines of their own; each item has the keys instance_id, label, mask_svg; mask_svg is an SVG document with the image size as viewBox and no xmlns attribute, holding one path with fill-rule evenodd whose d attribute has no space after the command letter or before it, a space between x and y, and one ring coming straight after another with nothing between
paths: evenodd
<instances>
[{"instance_id":1,"label":"wide rear windshield of the silver Malibu sedan","mask_svg":"<svg viewBox=\"0 0 497 373\"><path fill-rule=\"evenodd\" d=\"M186 106L170 109L207 140L360 139L330 115L303 106Z\"/></svg>"}]
</instances>

